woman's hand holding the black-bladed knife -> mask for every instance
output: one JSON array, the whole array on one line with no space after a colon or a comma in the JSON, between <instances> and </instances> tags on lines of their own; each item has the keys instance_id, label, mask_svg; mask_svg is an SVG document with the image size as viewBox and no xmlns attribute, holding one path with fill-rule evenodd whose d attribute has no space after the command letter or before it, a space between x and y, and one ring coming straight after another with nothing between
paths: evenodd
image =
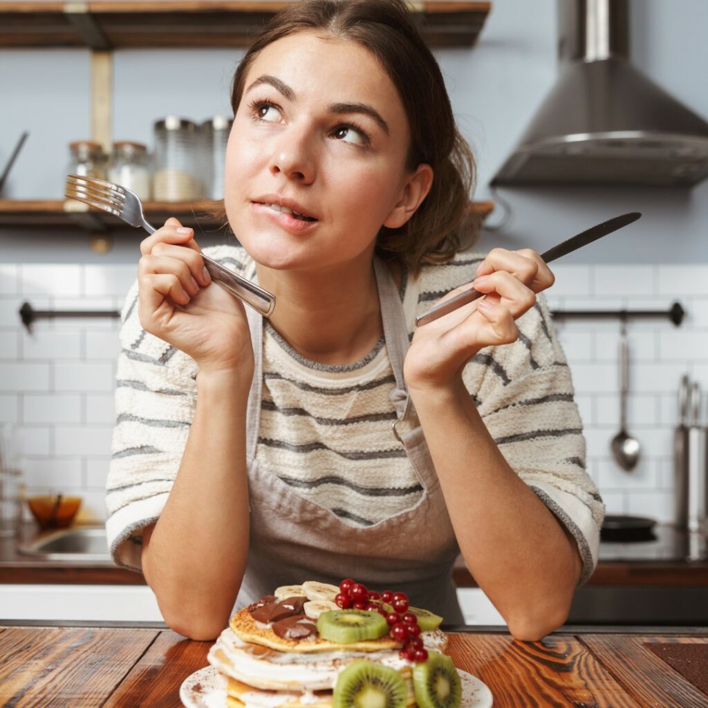
<instances>
[{"instance_id":1,"label":"woman's hand holding the black-bladed knife","mask_svg":"<svg viewBox=\"0 0 708 708\"><path fill-rule=\"evenodd\" d=\"M486 295L416 329L404 362L409 389L449 387L459 382L464 365L480 349L516 341L515 319L533 307L536 293L554 280L536 251L489 251L477 268L477 278L440 302L470 285Z\"/></svg>"}]
</instances>

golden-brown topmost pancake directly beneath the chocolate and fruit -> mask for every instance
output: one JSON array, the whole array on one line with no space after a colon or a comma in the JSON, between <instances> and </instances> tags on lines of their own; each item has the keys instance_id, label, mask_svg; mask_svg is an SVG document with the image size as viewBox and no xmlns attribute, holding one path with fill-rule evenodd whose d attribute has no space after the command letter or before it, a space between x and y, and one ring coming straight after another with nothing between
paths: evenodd
<instances>
[{"instance_id":1,"label":"golden-brown topmost pancake directly beneath the chocolate and fruit","mask_svg":"<svg viewBox=\"0 0 708 708\"><path fill-rule=\"evenodd\" d=\"M239 610L229 621L229 627L232 632L243 641L251 642L252 644L261 644L268 646L275 651L288 651L295 653L310 653L319 651L335 651L343 649L344 651L385 651L386 649L398 649L401 642L392 639L388 634L379 639L368 639L367 641L353 641L350 644L338 644L335 641L322 639L321 636L316 638L308 637L299 641L295 639L282 639L273 632L267 625L256 622L251 617L248 607Z\"/></svg>"}]
</instances>

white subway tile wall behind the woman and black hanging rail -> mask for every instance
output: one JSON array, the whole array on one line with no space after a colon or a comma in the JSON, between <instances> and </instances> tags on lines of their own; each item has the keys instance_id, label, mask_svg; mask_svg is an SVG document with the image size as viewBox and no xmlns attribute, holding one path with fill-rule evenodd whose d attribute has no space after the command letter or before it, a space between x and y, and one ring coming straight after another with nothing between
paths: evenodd
<instances>
[{"instance_id":1,"label":"white subway tile wall behind the woman and black hanging rail","mask_svg":"<svg viewBox=\"0 0 708 708\"><path fill-rule=\"evenodd\" d=\"M641 460L624 472L610 452L619 428L619 319L556 319L571 366L588 442L588 472L608 513L673 516L672 433L683 374L708 387L708 266L554 264L553 310L666 310L683 324L630 319L629 430ZM103 487L115 412L118 319L39 319L34 309L117 311L135 265L0 265L0 422L16 423L26 453L28 493L61 490L84 498L81 520L103 520Z\"/></svg>"}]
</instances>

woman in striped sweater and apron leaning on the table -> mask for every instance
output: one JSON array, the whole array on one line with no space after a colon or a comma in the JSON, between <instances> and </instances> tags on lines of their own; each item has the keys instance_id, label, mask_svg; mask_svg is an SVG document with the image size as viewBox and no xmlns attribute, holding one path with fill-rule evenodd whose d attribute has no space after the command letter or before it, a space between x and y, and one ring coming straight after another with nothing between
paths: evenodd
<instances>
[{"instance_id":1,"label":"woman in striped sweater and apron leaning on the table","mask_svg":"<svg viewBox=\"0 0 708 708\"><path fill-rule=\"evenodd\" d=\"M348 576L461 622L462 552L510 632L539 639L593 570L603 507L537 299L552 273L527 249L457 253L472 156L406 7L288 8L232 105L224 205L241 246L205 252L278 304L264 324L213 287L176 219L142 242L115 561L142 569L176 632L212 639L234 600ZM487 295L416 330L470 282Z\"/></svg>"}]
</instances>

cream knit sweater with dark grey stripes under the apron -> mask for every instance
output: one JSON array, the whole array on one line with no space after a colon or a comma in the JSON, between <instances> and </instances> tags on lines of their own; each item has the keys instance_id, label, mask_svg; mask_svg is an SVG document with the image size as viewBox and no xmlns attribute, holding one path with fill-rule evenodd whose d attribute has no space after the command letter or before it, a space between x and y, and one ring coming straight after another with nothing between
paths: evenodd
<instances>
[{"instance_id":1,"label":"cream knit sweater with dark grey stripes under the apron","mask_svg":"<svg viewBox=\"0 0 708 708\"><path fill-rule=\"evenodd\" d=\"M255 265L241 247L213 246L205 253L253 278ZM409 337L416 315L474 280L483 258L459 253L452 263L424 265L418 278L404 273L400 295ZM137 282L121 316L106 527L115 561L139 569L141 530L159 518L181 463L197 366L142 329ZM585 471L570 371L542 295L517 325L518 341L481 350L468 362L464 384L510 466L576 538L585 581L597 561L603 504ZM259 464L353 529L408 510L423 488L392 436L394 387L383 338L358 362L322 365L302 358L266 322Z\"/></svg>"}]
</instances>

